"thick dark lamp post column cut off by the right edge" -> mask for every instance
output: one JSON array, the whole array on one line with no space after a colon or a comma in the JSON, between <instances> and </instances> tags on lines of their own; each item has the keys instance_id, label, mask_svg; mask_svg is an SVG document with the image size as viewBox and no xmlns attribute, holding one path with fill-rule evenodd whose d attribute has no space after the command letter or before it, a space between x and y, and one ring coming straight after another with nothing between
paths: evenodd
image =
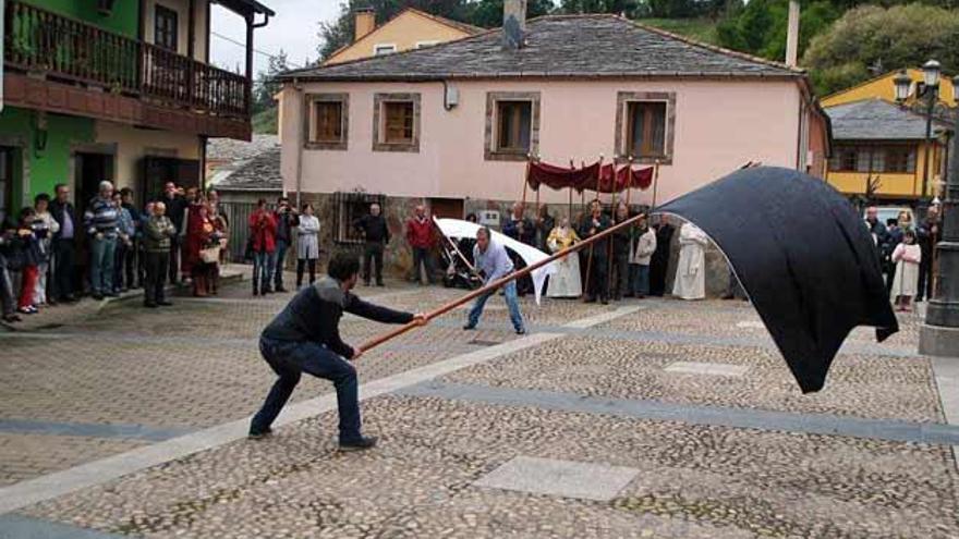
<instances>
[{"instance_id":1,"label":"thick dark lamp post column cut off by the right edge","mask_svg":"<svg viewBox=\"0 0 959 539\"><path fill-rule=\"evenodd\" d=\"M959 101L959 75L952 78L952 98ZM919 352L959 358L959 107L954 111L952 159L939 213L942 241L935 245L935 290L919 332Z\"/></svg>"}]
</instances>

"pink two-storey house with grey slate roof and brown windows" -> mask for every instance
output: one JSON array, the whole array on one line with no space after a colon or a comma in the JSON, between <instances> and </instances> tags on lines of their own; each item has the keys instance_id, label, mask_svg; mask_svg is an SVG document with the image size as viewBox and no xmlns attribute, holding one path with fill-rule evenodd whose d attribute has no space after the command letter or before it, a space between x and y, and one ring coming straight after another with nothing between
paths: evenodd
<instances>
[{"instance_id":1,"label":"pink two-storey house with grey slate roof and brown windows","mask_svg":"<svg viewBox=\"0 0 959 539\"><path fill-rule=\"evenodd\" d=\"M522 24L510 10L523 2L506 3L506 30L282 76L283 187L317 206L325 241L356 241L350 220L372 199L398 233L421 200L505 217L529 155L658 160L657 201L748 161L822 175L828 120L803 71L619 16ZM631 199L651 204L652 189ZM565 192L541 201L579 210Z\"/></svg>"}]
</instances>

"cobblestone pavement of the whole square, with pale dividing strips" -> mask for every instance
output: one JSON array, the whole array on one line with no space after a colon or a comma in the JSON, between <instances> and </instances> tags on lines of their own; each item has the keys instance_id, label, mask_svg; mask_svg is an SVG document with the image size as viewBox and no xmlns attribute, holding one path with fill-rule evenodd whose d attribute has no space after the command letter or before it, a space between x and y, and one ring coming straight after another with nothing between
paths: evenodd
<instances>
[{"instance_id":1,"label":"cobblestone pavement of the whole square, with pale dividing strips","mask_svg":"<svg viewBox=\"0 0 959 539\"><path fill-rule=\"evenodd\" d=\"M0 333L0 486L248 416L272 381L256 335L290 294L253 298L247 285L178 298L169 310L113 303L45 331ZM409 310L461 294L405 283L359 292ZM615 311L621 306L633 310ZM891 420L959 437L945 425L930 362L910 353L918 318L905 317L903 331L881 345L857 330L824 391L802 395L745 303L537 307L526 297L522 309L534 333L555 336L435 379L475 391L400 389L364 401L366 429L381 437L374 451L336 452L336 413L325 412L270 439L171 460L19 517L136 537L959 537L948 445L626 417L578 408L575 399L556 409L535 396ZM459 309L368 353L357 363L361 382L517 340L498 298L480 331L463 332L464 317ZM580 320L595 322L570 326ZM352 343L385 329L354 317L342 324ZM475 397L488 389L512 400ZM293 401L330 391L304 377ZM475 485L517 457L634 476L609 499ZM562 477L539 474L518 485Z\"/></svg>"}]
</instances>

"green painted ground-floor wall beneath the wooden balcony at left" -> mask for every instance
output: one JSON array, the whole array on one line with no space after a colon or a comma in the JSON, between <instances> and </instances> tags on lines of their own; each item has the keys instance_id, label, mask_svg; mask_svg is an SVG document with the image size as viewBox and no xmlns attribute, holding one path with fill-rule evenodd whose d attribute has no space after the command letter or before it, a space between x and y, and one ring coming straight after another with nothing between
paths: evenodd
<instances>
[{"instance_id":1,"label":"green painted ground-floor wall beneath the wooden balcony at left","mask_svg":"<svg viewBox=\"0 0 959 539\"><path fill-rule=\"evenodd\" d=\"M35 112L7 107L0 113L0 135L23 138L21 159L27 160L29 189L24 193L22 167L16 167L17 177L13 185L13 200L32 200L39 193L53 193L58 183L72 182L70 176L70 147L73 144L93 143L94 120L80 117L47 114L47 142L38 149ZM22 161L21 161L22 162ZM15 208L19 210L19 208Z\"/></svg>"}]
</instances>

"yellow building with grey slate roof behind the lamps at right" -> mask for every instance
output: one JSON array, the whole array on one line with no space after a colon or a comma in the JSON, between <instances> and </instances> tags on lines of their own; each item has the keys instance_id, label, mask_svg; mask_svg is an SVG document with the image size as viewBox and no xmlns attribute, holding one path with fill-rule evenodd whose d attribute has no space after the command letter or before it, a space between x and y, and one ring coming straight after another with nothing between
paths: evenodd
<instances>
[{"instance_id":1,"label":"yellow building with grey slate roof behind the lamps at right","mask_svg":"<svg viewBox=\"0 0 959 539\"><path fill-rule=\"evenodd\" d=\"M893 78L898 72L823 99L834 140L826 181L843 194L869 193L876 199L901 203L939 195L940 182L946 180L951 125L934 121L926 145L926 118L916 112L921 106L913 107L915 96L922 93L922 70L907 73L913 86L903 106L895 103ZM956 106L952 83L946 76L939 82L939 102Z\"/></svg>"}]
</instances>

